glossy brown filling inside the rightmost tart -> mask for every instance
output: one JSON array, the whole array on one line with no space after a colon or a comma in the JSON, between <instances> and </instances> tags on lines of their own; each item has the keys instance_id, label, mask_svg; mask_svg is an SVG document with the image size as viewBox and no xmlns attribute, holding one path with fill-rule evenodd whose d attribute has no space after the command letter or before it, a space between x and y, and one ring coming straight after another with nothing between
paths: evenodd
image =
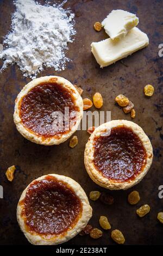
<instances>
[{"instance_id":1,"label":"glossy brown filling inside the rightmost tart","mask_svg":"<svg viewBox=\"0 0 163 256\"><path fill-rule=\"evenodd\" d=\"M94 140L94 164L105 178L118 182L134 180L145 167L146 150L128 127L111 129L110 136Z\"/></svg>"}]
</instances>

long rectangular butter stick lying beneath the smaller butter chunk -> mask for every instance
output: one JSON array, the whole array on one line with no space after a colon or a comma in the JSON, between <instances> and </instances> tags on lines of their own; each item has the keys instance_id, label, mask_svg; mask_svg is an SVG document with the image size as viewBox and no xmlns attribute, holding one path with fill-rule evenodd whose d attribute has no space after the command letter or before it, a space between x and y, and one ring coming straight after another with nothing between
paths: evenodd
<instances>
[{"instance_id":1,"label":"long rectangular butter stick lying beneath the smaller butter chunk","mask_svg":"<svg viewBox=\"0 0 163 256\"><path fill-rule=\"evenodd\" d=\"M120 41L108 38L100 42L92 42L91 47L97 63L103 68L146 47L148 44L147 34L140 31L139 28L133 28Z\"/></svg>"}]
</instances>

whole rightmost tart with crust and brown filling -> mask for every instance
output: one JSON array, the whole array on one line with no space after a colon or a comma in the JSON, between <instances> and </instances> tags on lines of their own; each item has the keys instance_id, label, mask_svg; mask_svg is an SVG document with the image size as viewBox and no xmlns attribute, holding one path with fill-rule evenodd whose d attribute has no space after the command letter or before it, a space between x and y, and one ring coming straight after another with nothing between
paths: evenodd
<instances>
[{"instance_id":1,"label":"whole rightmost tart with crust and brown filling","mask_svg":"<svg viewBox=\"0 0 163 256\"><path fill-rule=\"evenodd\" d=\"M147 174L153 149L141 127L112 120L97 127L85 147L84 162L90 178L110 190L126 190Z\"/></svg>"}]
</instances>

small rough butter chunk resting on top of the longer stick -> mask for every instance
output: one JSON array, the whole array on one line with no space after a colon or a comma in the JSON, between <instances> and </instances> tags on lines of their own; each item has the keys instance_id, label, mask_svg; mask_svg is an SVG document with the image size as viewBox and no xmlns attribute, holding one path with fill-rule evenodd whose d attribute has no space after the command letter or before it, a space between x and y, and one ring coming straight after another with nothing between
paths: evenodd
<instances>
[{"instance_id":1,"label":"small rough butter chunk resting on top of the longer stick","mask_svg":"<svg viewBox=\"0 0 163 256\"><path fill-rule=\"evenodd\" d=\"M122 39L131 28L139 23L135 14L124 10L112 10L103 20L102 26L112 40Z\"/></svg>"}]
</instances>

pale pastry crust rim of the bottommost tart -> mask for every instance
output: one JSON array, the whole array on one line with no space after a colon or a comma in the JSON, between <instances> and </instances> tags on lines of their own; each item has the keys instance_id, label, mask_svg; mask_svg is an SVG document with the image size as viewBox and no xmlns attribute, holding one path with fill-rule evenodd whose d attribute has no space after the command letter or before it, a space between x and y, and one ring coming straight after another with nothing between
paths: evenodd
<instances>
[{"instance_id":1,"label":"pale pastry crust rim of the bottommost tart","mask_svg":"<svg viewBox=\"0 0 163 256\"><path fill-rule=\"evenodd\" d=\"M89 204L89 200L86 196L86 193L84 192L83 188L78 184L78 182L74 181L70 177L64 176L64 175L58 175L58 174L48 174L51 176L54 176L60 181L64 181L68 186L70 186L73 191L76 193L76 195L80 198L83 206L82 215L79 217L78 222L74 225L74 227L68 229L65 234L60 234L52 237L51 239L45 239L39 234L31 234L29 231L26 230L24 219L21 216L22 212L22 205L19 203L26 197L26 192L28 187L34 182L33 180L27 188L22 192L20 200L17 204L17 222L20 225L20 228L24 235L26 236L27 240L32 243L33 245L58 245L60 243L67 242L68 240L72 239L74 236L79 234L79 232L85 228L87 223L89 222L90 218L92 217L92 208ZM42 180L45 179L46 176L43 175L40 178L37 178L36 180Z\"/></svg>"}]
</instances>

